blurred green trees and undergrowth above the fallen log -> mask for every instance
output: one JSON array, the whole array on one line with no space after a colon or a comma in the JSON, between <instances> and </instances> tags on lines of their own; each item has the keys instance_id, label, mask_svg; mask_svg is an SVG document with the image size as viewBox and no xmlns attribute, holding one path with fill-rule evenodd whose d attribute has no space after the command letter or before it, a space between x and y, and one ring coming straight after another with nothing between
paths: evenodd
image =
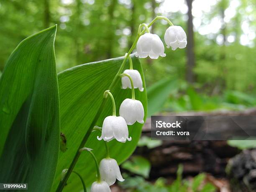
<instances>
[{"instance_id":1,"label":"blurred green trees and undergrowth above the fallen log","mask_svg":"<svg viewBox=\"0 0 256 192\"><path fill-rule=\"evenodd\" d=\"M185 29L188 45L166 48L165 58L141 59L148 87L177 79L163 111L251 107L256 105L255 5L256 0L1 0L0 71L21 40L54 24L61 72L124 55L138 25L164 15ZM167 27L158 21L151 33L163 40Z\"/></svg>"}]
</instances>

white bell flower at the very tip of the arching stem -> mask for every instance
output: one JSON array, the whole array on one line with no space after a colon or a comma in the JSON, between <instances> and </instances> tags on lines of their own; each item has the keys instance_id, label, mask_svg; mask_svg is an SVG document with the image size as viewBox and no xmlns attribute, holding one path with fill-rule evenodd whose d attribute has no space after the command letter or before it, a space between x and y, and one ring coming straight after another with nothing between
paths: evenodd
<instances>
[{"instance_id":1,"label":"white bell flower at the very tip of the arching stem","mask_svg":"<svg viewBox=\"0 0 256 192\"><path fill-rule=\"evenodd\" d=\"M170 26L164 34L164 41L167 48L171 46L172 50L178 47L183 49L187 46L187 35L181 26Z\"/></svg>"}]
</instances>

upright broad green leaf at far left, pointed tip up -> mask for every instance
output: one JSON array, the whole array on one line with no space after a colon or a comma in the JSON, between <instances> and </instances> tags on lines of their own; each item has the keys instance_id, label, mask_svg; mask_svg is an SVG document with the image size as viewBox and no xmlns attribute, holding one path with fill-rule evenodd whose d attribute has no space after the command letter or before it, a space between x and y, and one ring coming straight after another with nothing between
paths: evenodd
<instances>
[{"instance_id":1,"label":"upright broad green leaf at far left, pointed tip up","mask_svg":"<svg viewBox=\"0 0 256 192\"><path fill-rule=\"evenodd\" d=\"M0 79L0 182L48 192L59 155L56 26L23 40Z\"/></svg>"}]
</instances>

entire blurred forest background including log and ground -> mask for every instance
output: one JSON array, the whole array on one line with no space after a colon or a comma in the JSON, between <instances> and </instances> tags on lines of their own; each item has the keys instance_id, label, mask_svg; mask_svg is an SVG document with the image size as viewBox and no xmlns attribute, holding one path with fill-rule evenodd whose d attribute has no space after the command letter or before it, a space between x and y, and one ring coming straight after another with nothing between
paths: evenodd
<instances>
[{"instance_id":1,"label":"entire blurred forest background including log and ground","mask_svg":"<svg viewBox=\"0 0 256 192\"><path fill-rule=\"evenodd\" d=\"M188 44L176 51L166 48L164 58L140 59L148 96L155 98L148 100L148 116L246 111L256 106L256 0L0 0L0 74L20 41L54 24L58 24L55 53L61 72L123 56L138 25L157 15L182 26ZM165 21L157 21L150 29L163 41L167 27ZM256 115L256 110L249 113ZM227 187L227 180L218 178L227 177L228 159L241 149L256 147L255 141L230 142L235 148L222 141L161 142L148 136L146 123L135 155L122 165L122 171L128 170L126 181L114 186L114 191L115 187L120 191L120 186L136 192L236 191ZM256 170L256 160L251 160L256 159L256 151L239 155L231 164L241 174L235 178L256 181L256 171L250 176L251 169ZM244 168L247 161L250 169ZM183 166L177 169L179 164ZM193 176L192 182L183 182L182 173ZM131 177L134 174L140 176ZM256 191L255 183L248 191Z\"/></svg>"}]
</instances>

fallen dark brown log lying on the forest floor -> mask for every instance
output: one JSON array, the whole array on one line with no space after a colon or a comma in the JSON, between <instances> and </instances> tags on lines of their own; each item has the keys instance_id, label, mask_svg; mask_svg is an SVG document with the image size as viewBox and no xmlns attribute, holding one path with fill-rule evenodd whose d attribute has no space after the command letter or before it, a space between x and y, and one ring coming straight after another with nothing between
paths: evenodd
<instances>
[{"instance_id":1,"label":"fallen dark brown log lying on the forest floor","mask_svg":"<svg viewBox=\"0 0 256 192\"><path fill-rule=\"evenodd\" d=\"M164 113L160 115L256 115L256 109L243 111L214 111ZM151 121L146 121L142 136L150 137ZM175 177L178 164L183 164L184 175L196 175L207 172L215 177L226 177L225 167L228 160L238 154L239 149L231 147L226 141L163 141L153 149L137 147L135 155L144 156L151 162L150 179L157 177Z\"/></svg>"}]
</instances>

